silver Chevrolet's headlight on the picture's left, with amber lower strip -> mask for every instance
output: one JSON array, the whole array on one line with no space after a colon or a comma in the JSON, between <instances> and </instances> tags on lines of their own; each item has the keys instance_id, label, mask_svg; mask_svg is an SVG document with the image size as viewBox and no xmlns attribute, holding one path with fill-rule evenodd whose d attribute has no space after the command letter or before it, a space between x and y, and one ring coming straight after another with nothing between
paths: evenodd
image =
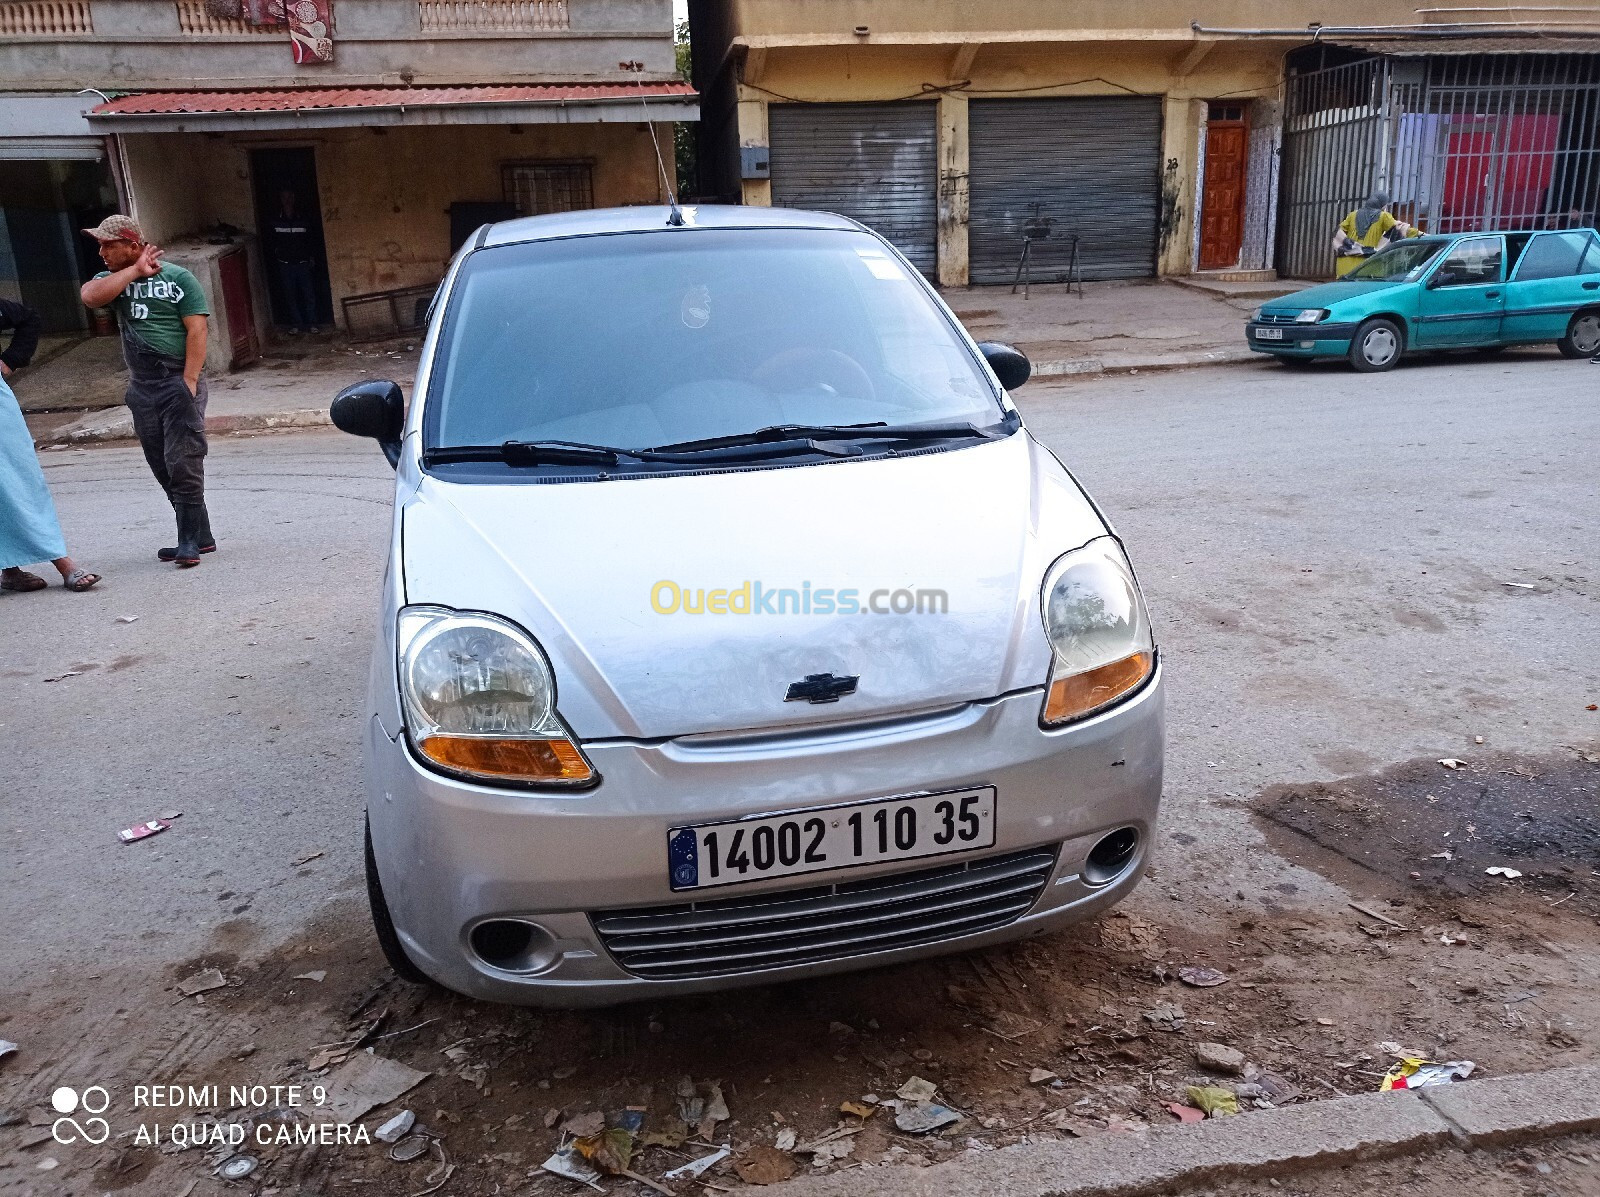
<instances>
[{"instance_id":1,"label":"silver Chevrolet's headlight on the picture's left, with amber lower strip","mask_svg":"<svg viewBox=\"0 0 1600 1197\"><path fill-rule=\"evenodd\" d=\"M467 781L581 786L595 771L555 714L555 679L507 619L406 607L397 632L411 747Z\"/></svg>"}]
</instances>

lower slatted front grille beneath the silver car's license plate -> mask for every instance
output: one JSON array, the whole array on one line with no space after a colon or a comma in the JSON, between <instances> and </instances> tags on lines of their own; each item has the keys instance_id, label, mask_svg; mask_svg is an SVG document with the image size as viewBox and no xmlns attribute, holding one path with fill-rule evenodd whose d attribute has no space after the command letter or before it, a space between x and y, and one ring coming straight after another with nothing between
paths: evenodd
<instances>
[{"instance_id":1,"label":"lower slatted front grille beneath the silver car's license plate","mask_svg":"<svg viewBox=\"0 0 1600 1197\"><path fill-rule=\"evenodd\" d=\"M1034 904L1054 867L1054 847L1035 848L869 882L590 919L606 951L634 976L686 981L992 931Z\"/></svg>"}]
</instances>

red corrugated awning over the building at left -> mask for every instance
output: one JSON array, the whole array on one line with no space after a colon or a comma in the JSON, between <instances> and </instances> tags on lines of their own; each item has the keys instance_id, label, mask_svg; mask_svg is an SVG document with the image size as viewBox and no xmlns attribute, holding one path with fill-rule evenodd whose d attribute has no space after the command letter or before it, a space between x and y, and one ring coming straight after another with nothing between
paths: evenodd
<instances>
[{"instance_id":1,"label":"red corrugated awning over the building at left","mask_svg":"<svg viewBox=\"0 0 1600 1197\"><path fill-rule=\"evenodd\" d=\"M142 91L88 112L104 131L181 133L365 125L542 125L698 120L694 88L638 83Z\"/></svg>"}]
</instances>

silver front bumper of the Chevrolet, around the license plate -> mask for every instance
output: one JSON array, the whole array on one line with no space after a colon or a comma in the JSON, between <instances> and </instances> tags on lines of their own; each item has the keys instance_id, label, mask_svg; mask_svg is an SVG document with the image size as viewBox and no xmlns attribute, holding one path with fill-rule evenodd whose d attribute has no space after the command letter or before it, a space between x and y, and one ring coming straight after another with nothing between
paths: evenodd
<instances>
[{"instance_id":1,"label":"silver front bumper of the Chevrolet, around the license plate","mask_svg":"<svg viewBox=\"0 0 1600 1197\"><path fill-rule=\"evenodd\" d=\"M1162 791L1162 677L1112 711L1038 727L1042 691L891 723L758 738L586 744L602 784L587 792L507 792L421 767L405 738L368 720L366 784L378 874L400 941L435 981L526 1005L608 1005L765 984L914 960L1037 935L1090 917L1136 885ZM667 831L694 823L832 807L971 786L997 789L995 843L949 856L774 877L696 895L667 885ZM1139 848L1112 882L1083 879L1090 848L1133 827ZM1027 848L1056 851L1037 899L1014 922L912 947L734 975L643 979L606 951L590 915L690 898L778 895ZM526 919L554 938L538 973L509 973L469 946L485 919Z\"/></svg>"}]
</instances>

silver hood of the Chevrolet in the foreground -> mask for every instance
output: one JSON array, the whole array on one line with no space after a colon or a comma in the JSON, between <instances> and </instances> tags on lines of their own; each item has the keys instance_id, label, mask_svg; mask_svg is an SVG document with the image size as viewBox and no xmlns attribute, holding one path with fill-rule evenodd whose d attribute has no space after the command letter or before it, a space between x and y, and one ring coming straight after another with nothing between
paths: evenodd
<instances>
[{"instance_id":1,"label":"silver hood of the Chevrolet in the foreground","mask_svg":"<svg viewBox=\"0 0 1600 1197\"><path fill-rule=\"evenodd\" d=\"M584 739L856 722L1043 687L1045 570L1106 525L1026 432L942 453L555 485L422 475L405 600L502 615L544 647ZM661 613L658 582L944 590L923 615ZM757 590L755 587L760 587ZM656 594L670 607L670 590ZM893 595L880 597L880 605ZM901 598L901 605L904 605ZM699 603L694 603L699 605ZM925 605L926 600L925 600ZM786 703L811 674L837 703Z\"/></svg>"}]
</instances>

